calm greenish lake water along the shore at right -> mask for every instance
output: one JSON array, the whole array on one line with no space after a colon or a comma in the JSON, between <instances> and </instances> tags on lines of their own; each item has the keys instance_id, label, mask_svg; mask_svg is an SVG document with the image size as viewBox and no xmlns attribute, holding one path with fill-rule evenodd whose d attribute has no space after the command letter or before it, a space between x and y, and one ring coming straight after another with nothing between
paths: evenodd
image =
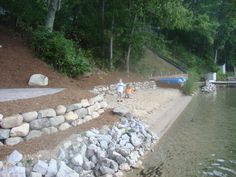
<instances>
[{"instance_id":1,"label":"calm greenish lake water along the shore at right","mask_svg":"<svg viewBox=\"0 0 236 177\"><path fill-rule=\"evenodd\" d=\"M236 177L236 88L195 96L143 165L127 176Z\"/></svg>"}]
</instances>

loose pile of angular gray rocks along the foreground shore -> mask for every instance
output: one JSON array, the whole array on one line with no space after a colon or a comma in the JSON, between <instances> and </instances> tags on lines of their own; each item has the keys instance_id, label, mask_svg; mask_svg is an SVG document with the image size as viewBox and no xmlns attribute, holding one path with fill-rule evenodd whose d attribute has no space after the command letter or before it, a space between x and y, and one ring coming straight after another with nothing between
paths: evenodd
<instances>
[{"instance_id":1,"label":"loose pile of angular gray rocks along the foreground shore","mask_svg":"<svg viewBox=\"0 0 236 177\"><path fill-rule=\"evenodd\" d=\"M110 128L91 129L74 136L59 148L56 160L39 160L26 167L21 163L22 155L14 151L5 162L0 162L0 176L13 173L17 174L14 177L122 176L122 171L142 167L139 158L156 140L128 113Z\"/></svg>"}]
</instances>

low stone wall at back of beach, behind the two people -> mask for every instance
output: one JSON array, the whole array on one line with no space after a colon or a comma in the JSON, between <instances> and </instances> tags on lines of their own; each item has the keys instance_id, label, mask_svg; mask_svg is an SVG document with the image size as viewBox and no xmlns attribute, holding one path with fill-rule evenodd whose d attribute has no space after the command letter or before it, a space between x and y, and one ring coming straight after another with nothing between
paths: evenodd
<instances>
[{"instance_id":1,"label":"low stone wall at back of beach, behind the two people","mask_svg":"<svg viewBox=\"0 0 236 177\"><path fill-rule=\"evenodd\" d=\"M157 87L155 81L130 82L127 84L129 84L135 90L156 89ZM116 95L116 84L95 86L91 92L103 95Z\"/></svg>"}]
</instances>

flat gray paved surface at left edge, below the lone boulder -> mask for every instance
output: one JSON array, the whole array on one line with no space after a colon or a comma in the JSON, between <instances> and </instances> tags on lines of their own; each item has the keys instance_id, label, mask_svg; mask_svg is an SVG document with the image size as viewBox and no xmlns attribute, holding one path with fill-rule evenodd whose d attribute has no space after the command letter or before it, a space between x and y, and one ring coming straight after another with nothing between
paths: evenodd
<instances>
[{"instance_id":1,"label":"flat gray paved surface at left edge, below the lone boulder","mask_svg":"<svg viewBox=\"0 0 236 177\"><path fill-rule=\"evenodd\" d=\"M0 89L0 102L35 98L63 91L64 88L14 88Z\"/></svg>"}]
</instances>

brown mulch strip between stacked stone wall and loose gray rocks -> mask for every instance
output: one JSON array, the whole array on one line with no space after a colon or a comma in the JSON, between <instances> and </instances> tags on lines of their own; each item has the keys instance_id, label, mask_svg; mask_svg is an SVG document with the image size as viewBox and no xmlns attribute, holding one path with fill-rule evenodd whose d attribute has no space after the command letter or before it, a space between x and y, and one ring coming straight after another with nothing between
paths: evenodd
<instances>
[{"instance_id":1,"label":"brown mulch strip between stacked stone wall and loose gray rocks","mask_svg":"<svg viewBox=\"0 0 236 177\"><path fill-rule=\"evenodd\" d=\"M17 149L23 154L33 154L41 150L53 150L60 142L66 140L73 134L78 134L93 127L101 128L104 125L113 125L119 121L119 117L113 115L110 110L106 111L99 118L88 121L82 125L69 128L50 135L42 135L39 138L19 143L15 146L0 146L0 159L3 160L13 150Z\"/></svg>"}]
</instances>

